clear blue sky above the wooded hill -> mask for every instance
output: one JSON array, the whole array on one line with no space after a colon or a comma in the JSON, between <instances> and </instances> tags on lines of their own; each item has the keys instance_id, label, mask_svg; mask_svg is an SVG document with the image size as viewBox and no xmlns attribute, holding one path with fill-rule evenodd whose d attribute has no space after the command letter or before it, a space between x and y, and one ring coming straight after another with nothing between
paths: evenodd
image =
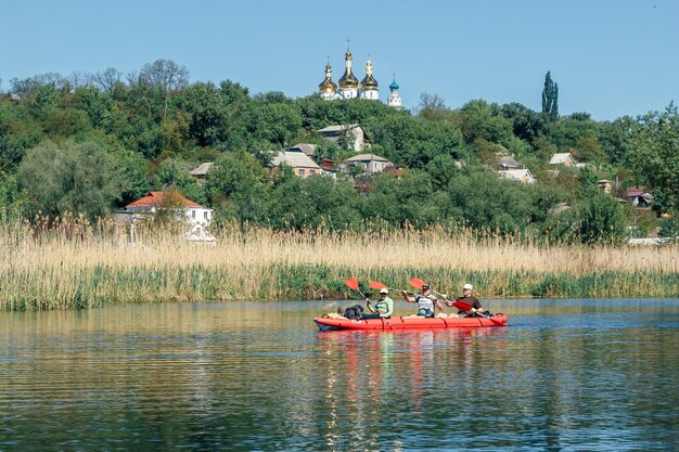
<instances>
[{"instance_id":1,"label":"clear blue sky above the wooded hill","mask_svg":"<svg viewBox=\"0 0 679 452\"><path fill-rule=\"evenodd\" d=\"M0 0L0 78L64 76L158 59L191 81L311 94L330 56L357 77L370 54L383 100L392 75L405 106L421 93L457 108L472 99L541 109L545 75L560 114L613 120L679 100L676 0Z\"/></svg>"}]
</instances>

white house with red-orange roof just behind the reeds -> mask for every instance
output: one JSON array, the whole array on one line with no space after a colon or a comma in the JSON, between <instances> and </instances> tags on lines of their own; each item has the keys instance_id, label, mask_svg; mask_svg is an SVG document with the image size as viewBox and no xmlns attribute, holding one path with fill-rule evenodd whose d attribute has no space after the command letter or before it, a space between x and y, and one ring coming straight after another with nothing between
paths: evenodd
<instances>
[{"instance_id":1,"label":"white house with red-orange roof just behind the reeds","mask_svg":"<svg viewBox=\"0 0 679 452\"><path fill-rule=\"evenodd\" d=\"M149 192L133 203L125 206L125 211L118 212L116 219L124 222L133 222L137 219L153 216L161 208L183 209L190 225L206 227L213 221L214 211L188 199L177 192ZM127 218L126 218L127 217Z\"/></svg>"}]
</instances>

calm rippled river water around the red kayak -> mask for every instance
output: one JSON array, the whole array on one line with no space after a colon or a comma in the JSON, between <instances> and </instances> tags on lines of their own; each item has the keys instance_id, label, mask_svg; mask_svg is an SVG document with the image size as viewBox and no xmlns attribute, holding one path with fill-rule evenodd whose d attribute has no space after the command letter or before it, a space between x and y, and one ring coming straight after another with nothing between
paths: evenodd
<instances>
[{"instance_id":1,"label":"calm rippled river water around the red kayak","mask_svg":"<svg viewBox=\"0 0 679 452\"><path fill-rule=\"evenodd\" d=\"M318 332L340 305L0 313L0 451L679 450L679 299Z\"/></svg>"}]
</instances>

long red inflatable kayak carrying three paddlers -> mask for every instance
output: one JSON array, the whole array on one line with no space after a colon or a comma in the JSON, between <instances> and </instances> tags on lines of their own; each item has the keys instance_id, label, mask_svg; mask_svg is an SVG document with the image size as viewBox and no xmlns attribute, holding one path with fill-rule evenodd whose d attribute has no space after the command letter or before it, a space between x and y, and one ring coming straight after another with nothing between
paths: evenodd
<instances>
[{"instance_id":1,"label":"long red inflatable kayak carrying three paddlers","mask_svg":"<svg viewBox=\"0 0 679 452\"><path fill-rule=\"evenodd\" d=\"M317 317L313 322L321 331L334 330L432 330L432 328L458 328L478 326L505 326L509 318L504 314L495 314L491 318L467 317L425 319L422 317L393 317L390 319L333 319L330 317Z\"/></svg>"}]
</instances>

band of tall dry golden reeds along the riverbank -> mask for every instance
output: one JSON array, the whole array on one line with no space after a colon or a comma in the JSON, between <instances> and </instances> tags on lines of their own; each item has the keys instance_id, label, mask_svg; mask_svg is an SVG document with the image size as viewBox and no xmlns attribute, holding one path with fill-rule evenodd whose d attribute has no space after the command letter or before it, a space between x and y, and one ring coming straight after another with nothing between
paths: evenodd
<instances>
[{"instance_id":1,"label":"band of tall dry golden reeds along the riverbank","mask_svg":"<svg viewBox=\"0 0 679 452\"><path fill-rule=\"evenodd\" d=\"M441 292L473 283L483 297L677 297L679 248L548 246L471 230L277 232L228 225L218 242L66 217L3 224L0 309L111 302L347 297L356 276Z\"/></svg>"}]
</instances>

